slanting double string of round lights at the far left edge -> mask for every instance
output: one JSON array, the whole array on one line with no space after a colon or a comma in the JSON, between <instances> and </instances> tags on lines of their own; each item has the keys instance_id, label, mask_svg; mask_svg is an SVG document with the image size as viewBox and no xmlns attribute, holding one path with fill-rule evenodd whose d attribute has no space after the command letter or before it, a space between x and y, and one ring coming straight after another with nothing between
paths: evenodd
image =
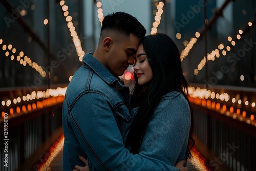
<instances>
[{"instance_id":1,"label":"slanting double string of round lights at the far left edge","mask_svg":"<svg viewBox=\"0 0 256 171\"><path fill-rule=\"evenodd\" d=\"M3 42L3 39L0 39L1 41L0 42ZM10 44L8 45L8 49L12 52L12 53L15 53L16 52L16 49L13 48L13 46ZM7 50L7 46L6 45L3 45L2 49L5 51ZM5 55L6 56L9 56L10 52L9 51L6 51ZM19 61L20 65L23 65L24 67L28 65L35 69L42 77L46 77L46 72L45 70L42 69L41 66L39 66L36 62L32 62L32 60L30 58L28 58L27 56L24 57L24 59L22 59L24 57L24 52L23 51L20 51L19 52L19 55L17 55L17 61ZM14 55L11 55L10 56L11 60L14 60Z\"/></svg>"}]
</instances>

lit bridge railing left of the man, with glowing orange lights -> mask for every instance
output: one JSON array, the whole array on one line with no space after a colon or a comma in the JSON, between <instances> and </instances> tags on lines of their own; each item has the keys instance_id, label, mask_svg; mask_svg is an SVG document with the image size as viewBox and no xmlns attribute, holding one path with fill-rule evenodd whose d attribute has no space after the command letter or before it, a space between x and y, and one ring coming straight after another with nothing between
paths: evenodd
<instances>
[{"instance_id":1,"label":"lit bridge railing left of the man, with glowing orange lights","mask_svg":"<svg viewBox=\"0 0 256 171\"><path fill-rule=\"evenodd\" d=\"M45 159L49 147L62 134L61 109L66 86L0 91L0 142L4 144L1 170L36 170L36 163Z\"/></svg>"}]
</instances>

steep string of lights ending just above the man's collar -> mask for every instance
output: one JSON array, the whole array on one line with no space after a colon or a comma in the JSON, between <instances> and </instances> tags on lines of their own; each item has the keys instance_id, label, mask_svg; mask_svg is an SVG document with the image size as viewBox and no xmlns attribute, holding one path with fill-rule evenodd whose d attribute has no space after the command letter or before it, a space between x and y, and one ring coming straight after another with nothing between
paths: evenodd
<instances>
[{"instance_id":1,"label":"steep string of lights ending just above the man's collar","mask_svg":"<svg viewBox=\"0 0 256 171\"><path fill-rule=\"evenodd\" d=\"M79 56L79 60L82 61L82 57L86 53L82 50L81 41L77 35L77 32L75 31L75 27L72 22L72 17L69 16L69 12L68 12L69 7L65 5L65 1L60 1L59 5L62 6L61 9L63 11L63 15L66 17L66 21L68 22L67 26L70 30L70 35L73 37L72 40L76 48L77 56Z\"/></svg>"}]
</instances>

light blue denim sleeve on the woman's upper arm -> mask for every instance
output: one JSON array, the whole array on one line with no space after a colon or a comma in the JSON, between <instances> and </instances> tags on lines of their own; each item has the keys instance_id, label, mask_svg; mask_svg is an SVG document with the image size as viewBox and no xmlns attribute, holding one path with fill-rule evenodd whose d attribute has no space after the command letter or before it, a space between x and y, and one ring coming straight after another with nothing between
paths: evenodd
<instances>
[{"instance_id":1,"label":"light blue denim sleeve on the woman's upper arm","mask_svg":"<svg viewBox=\"0 0 256 171\"><path fill-rule=\"evenodd\" d=\"M148 123L139 154L174 166L184 160L189 130L190 110L184 96L165 96Z\"/></svg>"}]
</instances>

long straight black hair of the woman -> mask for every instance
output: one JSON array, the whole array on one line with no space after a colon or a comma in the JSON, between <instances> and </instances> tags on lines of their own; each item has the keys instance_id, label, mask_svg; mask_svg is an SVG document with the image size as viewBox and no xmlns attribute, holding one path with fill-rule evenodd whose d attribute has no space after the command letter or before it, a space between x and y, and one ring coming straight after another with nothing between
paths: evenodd
<instances>
[{"instance_id":1,"label":"long straight black hair of the woman","mask_svg":"<svg viewBox=\"0 0 256 171\"><path fill-rule=\"evenodd\" d=\"M134 73L135 87L131 98L131 107L140 106L138 113L127 135L126 146L130 145L131 153L138 154L146 127L163 95L171 91L178 91L186 96L188 83L184 78L179 49L175 42L166 34L158 33L148 35L141 40L148 63L153 72L150 83L144 86L138 84L138 77ZM195 141L191 137L193 132L193 114L191 114L191 127L185 158L190 158L190 150Z\"/></svg>"}]
</instances>

